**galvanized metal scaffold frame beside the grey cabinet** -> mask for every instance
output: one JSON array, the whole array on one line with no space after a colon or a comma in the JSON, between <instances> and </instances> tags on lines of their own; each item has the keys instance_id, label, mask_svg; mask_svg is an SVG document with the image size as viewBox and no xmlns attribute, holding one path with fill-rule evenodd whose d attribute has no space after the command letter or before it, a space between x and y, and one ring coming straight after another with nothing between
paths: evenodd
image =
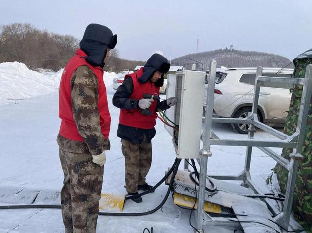
<instances>
[{"instance_id":1,"label":"galvanized metal scaffold frame beside the grey cabinet","mask_svg":"<svg viewBox=\"0 0 312 233\"><path fill-rule=\"evenodd\" d=\"M262 76L262 67L257 68L255 86L254 86L254 100L251 114L245 119L233 119L233 118L214 118L213 107L214 107L214 95L215 95L215 77L216 77L216 61L212 60L210 64L210 72L208 75L208 90L207 90L207 107L206 107L206 120L204 123L204 131L202 135L203 147L200 151L200 175L199 175L199 192L198 192L198 209L196 212L196 227L200 232L203 232L204 224L204 198L205 198L205 186L206 186L206 175L207 175L207 161L208 157L212 156L210 152L211 145L221 146L246 146L246 158L244 170L237 176L228 175L215 175L210 176L211 178L220 180L241 180L242 185L250 187L254 194L264 195L263 192L255 185L250 175L250 164L253 147L258 147L266 155L269 155L282 167L288 170L288 179L285 192L285 200L283 210L279 212L274 205L266 198L260 198L264 201L274 216L274 221L280 224L285 229L288 229L291 210L292 210L292 199L296 182L296 175L298 170L298 164L303 159L301 155L302 146L304 143L305 128L308 118L308 112L310 107L310 100L312 94L312 65L308 65L306 68L305 78L283 78L283 77L266 77ZM300 111L298 116L296 132L291 136L288 136L278 130L269 127L259 121L257 117L258 101L260 94L260 87L275 87L273 84L278 83L289 83L295 85L303 85L302 98L300 103ZM239 123L249 124L248 137L245 140L234 140L234 139L222 139L215 135L212 131L212 123ZM254 138L255 127L270 133L277 139L272 140L257 140ZM290 161L283 158L281 155L275 153L269 147L279 148L293 148L290 156ZM213 224L211 221L210 224Z\"/></svg>"}]
</instances>

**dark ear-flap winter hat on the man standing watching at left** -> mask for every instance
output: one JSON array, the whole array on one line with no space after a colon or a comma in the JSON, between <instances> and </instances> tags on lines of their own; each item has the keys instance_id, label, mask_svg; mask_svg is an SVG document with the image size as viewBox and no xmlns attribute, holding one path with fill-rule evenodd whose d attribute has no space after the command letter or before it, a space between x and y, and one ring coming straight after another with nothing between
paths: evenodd
<instances>
[{"instance_id":1,"label":"dark ear-flap winter hat on the man standing watching at left","mask_svg":"<svg viewBox=\"0 0 312 233\"><path fill-rule=\"evenodd\" d=\"M107 48L113 49L117 44L117 35L106 26L92 23L84 32L80 48L87 54L86 61L93 66L104 67Z\"/></svg>"}]
</instances>

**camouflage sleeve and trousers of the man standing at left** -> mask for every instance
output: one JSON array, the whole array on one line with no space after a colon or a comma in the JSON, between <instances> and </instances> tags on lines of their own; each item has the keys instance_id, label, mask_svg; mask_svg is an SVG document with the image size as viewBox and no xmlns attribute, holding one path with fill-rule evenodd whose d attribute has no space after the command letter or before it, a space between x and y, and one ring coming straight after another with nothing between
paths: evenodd
<instances>
[{"instance_id":1,"label":"camouflage sleeve and trousers of the man standing at left","mask_svg":"<svg viewBox=\"0 0 312 233\"><path fill-rule=\"evenodd\" d=\"M99 125L98 78L88 66L80 66L71 77L72 110L84 141L57 136L64 172L61 190L62 216L66 233L95 233L104 167L92 155L110 149Z\"/></svg>"}]
</instances>

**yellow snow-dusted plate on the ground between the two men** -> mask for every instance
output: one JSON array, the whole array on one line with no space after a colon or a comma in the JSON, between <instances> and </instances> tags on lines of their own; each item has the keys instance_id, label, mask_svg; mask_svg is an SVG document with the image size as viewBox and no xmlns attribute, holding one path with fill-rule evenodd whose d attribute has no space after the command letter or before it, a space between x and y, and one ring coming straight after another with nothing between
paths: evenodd
<instances>
[{"instance_id":1,"label":"yellow snow-dusted plate on the ground between the two men","mask_svg":"<svg viewBox=\"0 0 312 233\"><path fill-rule=\"evenodd\" d=\"M99 200L99 210L119 210L122 211L126 194L102 194Z\"/></svg>"}]
</instances>

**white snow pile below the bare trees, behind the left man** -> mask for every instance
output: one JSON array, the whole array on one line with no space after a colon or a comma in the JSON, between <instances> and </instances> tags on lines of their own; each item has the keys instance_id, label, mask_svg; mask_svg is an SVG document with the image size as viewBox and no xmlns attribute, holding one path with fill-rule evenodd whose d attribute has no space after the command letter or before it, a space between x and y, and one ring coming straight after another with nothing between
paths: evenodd
<instances>
[{"instance_id":1,"label":"white snow pile below the bare trees, behind the left man","mask_svg":"<svg viewBox=\"0 0 312 233\"><path fill-rule=\"evenodd\" d=\"M58 92L63 70L39 69L37 72L20 62L0 63L0 103ZM106 87L111 88L117 77L119 74L104 72Z\"/></svg>"}]
</instances>

